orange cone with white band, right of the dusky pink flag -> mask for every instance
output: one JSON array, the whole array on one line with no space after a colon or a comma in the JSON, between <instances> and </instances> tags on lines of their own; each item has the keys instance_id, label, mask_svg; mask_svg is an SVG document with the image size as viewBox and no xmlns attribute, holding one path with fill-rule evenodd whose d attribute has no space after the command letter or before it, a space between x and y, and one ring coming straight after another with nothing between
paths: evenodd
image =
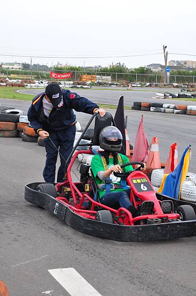
<instances>
[{"instance_id":1,"label":"orange cone with white band, right of the dusky pink flag","mask_svg":"<svg viewBox=\"0 0 196 296\"><path fill-rule=\"evenodd\" d=\"M152 138L150 152L146 162L146 168L161 169L161 161L159 155L159 139L157 137Z\"/></svg>"}]
</instances>

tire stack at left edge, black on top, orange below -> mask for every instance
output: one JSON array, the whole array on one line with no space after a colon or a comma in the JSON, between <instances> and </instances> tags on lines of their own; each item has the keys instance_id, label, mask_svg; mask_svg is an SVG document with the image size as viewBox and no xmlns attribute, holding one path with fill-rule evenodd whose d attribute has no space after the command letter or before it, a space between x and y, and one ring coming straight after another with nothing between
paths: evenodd
<instances>
[{"instance_id":1,"label":"tire stack at left edge, black on top, orange below","mask_svg":"<svg viewBox=\"0 0 196 296\"><path fill-rule=\"evenodd\" d=\"M16 138L18 137L17 123L19 115L0 113L0 137Z\"/></svg>"}]
</instances>

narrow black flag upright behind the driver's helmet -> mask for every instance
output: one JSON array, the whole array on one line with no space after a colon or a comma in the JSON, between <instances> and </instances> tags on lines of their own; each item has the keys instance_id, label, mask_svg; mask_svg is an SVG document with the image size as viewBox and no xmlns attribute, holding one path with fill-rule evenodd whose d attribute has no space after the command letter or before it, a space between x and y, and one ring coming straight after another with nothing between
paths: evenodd
<instances>
[{"instance_id":1,"label":"narrow black flag upright behind the driver's helmet","mask_svg":"<svg viewBox=\"0 0 196 296\"><path fill-rule=\"evenodd\" d=\"M125 114L124 114L124 96L121 95L118 102L118 107L115 112L114 122L116 127L122 134L122 149L120 153L126 155L126 136L125 136Z\"/></svg>"}]
</instances>

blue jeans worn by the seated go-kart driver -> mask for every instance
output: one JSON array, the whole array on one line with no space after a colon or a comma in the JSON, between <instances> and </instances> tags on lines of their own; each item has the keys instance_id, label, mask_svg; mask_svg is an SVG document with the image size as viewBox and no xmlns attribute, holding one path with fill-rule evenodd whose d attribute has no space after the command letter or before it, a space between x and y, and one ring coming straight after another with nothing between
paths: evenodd
<instances>
[{"instance_id":1,"label":"blue jeans worn by the seated go-kart driver","mask_svg":"<svg viewBox=\"0 0 196 296\"><path fill-rule=\"evenodd\" d=\"M132 206L132 203L130 201L130 189L125 191L116 191L111 190L109 193L104 194L101 199L101 203L108 207L123 207L125 209L128 209L130 206Z\"/></svg>"}]
</instances>

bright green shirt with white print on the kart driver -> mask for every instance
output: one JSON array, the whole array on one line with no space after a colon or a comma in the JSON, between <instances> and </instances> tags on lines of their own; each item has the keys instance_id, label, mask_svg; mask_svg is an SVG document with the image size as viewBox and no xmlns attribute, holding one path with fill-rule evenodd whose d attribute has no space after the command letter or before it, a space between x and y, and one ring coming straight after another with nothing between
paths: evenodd
<instances>
[{"instance_id":1,"label":"bright green shirt with white print on the kart driver","mask_svg":"<svg viewBox=\"0 0 196 296\"><path fill-rule=\"evenodd\" d=\"M130 162L129 158L121 153L119 153L121 159L122 159L122 163L125 164L125 163L128 163ZM118 164L119 164L119 161L118 161ZM113 157L109 157L109 164L108 164L108 169L110 169L112 166L113 166ZM99 177L97 177L97 173L99 171L105 171L104 169L104 165L103 165L103 161L102 161L102 158L100 156L100 154L96 154L93 156L92 158L92 161L91 161L91 170L92 170L92 173L94 175L94 178L95 178L95 182L97 185L99 184L105 184L104 181L102 181L101 179L99 179ZM125 173L127 172L131 172L133 171L133 167L132 165L128 165L126 166L125 168L123 168L123 171ZM112 180L112 183L111 184L120 184L120 178L117 178L113 175L113 172L112 174L110 175L110 178ZM123 191L125 189L111 189L111 190L115 190L115 191ZM104 195L106 193L106 190L104 189L99 189L99 198L102 197L102 195Z\"/></svg>"}]
</instances>

